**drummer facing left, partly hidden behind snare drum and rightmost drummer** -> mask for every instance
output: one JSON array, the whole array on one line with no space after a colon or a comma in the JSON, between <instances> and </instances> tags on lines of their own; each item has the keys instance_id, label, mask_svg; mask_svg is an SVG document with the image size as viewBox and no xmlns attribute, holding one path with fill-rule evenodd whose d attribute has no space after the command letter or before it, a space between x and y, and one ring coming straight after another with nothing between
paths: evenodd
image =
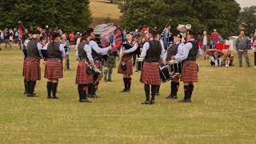
<instances>
[{"instance_id":1,"label":"drummer facing left, partly hidden behind snare drum and rightmost drummer","mask_svg":"<svg viewBox=\"0 0 256 144\"><path fill-rule=\"evenodd\" d=\"M174 60L176 62L182 62L182 59L180 59L180 55L182 55L183 51L186 49L185 44L182 43L182 35L179 34L179 31L175 30L173 35L174 35L174 42L166 50L166 55L164 58L165 63L173 62ZM181 77L181 74L178 74L172 79L171 85L170 85L170 95L167 97L167 99L177 99L180 77Z\"/></svg>"}]
</instances>

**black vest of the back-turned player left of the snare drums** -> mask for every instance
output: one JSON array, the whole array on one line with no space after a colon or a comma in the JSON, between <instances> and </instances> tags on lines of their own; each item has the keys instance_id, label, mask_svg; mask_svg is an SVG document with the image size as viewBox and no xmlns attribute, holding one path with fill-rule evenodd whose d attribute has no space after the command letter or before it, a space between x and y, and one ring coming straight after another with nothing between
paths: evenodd
<instances>
[{"instance_id":1,"label":"black vest of the back-turned player left of the snare drums","mask_svg":"<svg viewBox=\"0 0 256 144\"><path fill-rule=\"evenodd\" d=\"M146 51L145 62L159 62L162 52L161 43L158 40L151 40L150 48Z\"/></svg>"}]
</instances>

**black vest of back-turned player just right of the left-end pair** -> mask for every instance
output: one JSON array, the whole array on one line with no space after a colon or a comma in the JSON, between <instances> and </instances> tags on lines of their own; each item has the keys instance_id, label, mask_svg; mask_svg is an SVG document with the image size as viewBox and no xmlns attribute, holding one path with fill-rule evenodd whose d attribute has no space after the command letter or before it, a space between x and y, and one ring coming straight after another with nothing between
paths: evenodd
<instances>
[{"instance_id":1,"label":"black vest of back-turned player just right of the left-end pair","mask_svg":"<svg viewBox=\"0 0 256 144\"><path fill-rule=\"evenodd\" d=\"M48 58L62 59L62 51L59 50L61 42L50 42L47 46Z\"/></svg>"}]
</instances>

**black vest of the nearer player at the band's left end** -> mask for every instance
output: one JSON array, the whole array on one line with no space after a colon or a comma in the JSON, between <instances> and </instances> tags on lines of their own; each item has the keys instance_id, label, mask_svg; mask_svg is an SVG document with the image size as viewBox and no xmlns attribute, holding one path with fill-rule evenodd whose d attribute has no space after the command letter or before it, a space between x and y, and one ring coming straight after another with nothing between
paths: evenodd
<instances>
[{"instance_id":1,"label":"black vest of the nearer player at the band's left end","mask_svg":"<svg viewBox=\"0 0 256 144\"><path fill-rule=\"evenodd\" d=\"M34 38L30 40L27 44L27 58L40 58L38 51L38 41Z\"/></svg>"}]
</instances>

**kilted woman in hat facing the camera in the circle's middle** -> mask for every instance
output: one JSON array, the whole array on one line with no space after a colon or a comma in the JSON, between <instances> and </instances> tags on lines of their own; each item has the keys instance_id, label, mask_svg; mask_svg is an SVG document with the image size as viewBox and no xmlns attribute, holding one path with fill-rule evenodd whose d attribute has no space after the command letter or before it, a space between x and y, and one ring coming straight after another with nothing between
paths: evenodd
<instances>
[{"instance_id":1,"label":"kilted woman in hat facing the camera in the circle's middle","mask_svg":"<svg viewBox=\"0 0 256 144\"><path fill-rule=\"evenodd\" d=\"M123 42L123 47L120 52L121 61L118 66L118 74L123 74L124 89L120 92L130 93L131 75L133 75L133 52L137 50L138 42L134 40L134 35L131 32L126 32L126 42Z\"/></svg>"}]
</instances>

